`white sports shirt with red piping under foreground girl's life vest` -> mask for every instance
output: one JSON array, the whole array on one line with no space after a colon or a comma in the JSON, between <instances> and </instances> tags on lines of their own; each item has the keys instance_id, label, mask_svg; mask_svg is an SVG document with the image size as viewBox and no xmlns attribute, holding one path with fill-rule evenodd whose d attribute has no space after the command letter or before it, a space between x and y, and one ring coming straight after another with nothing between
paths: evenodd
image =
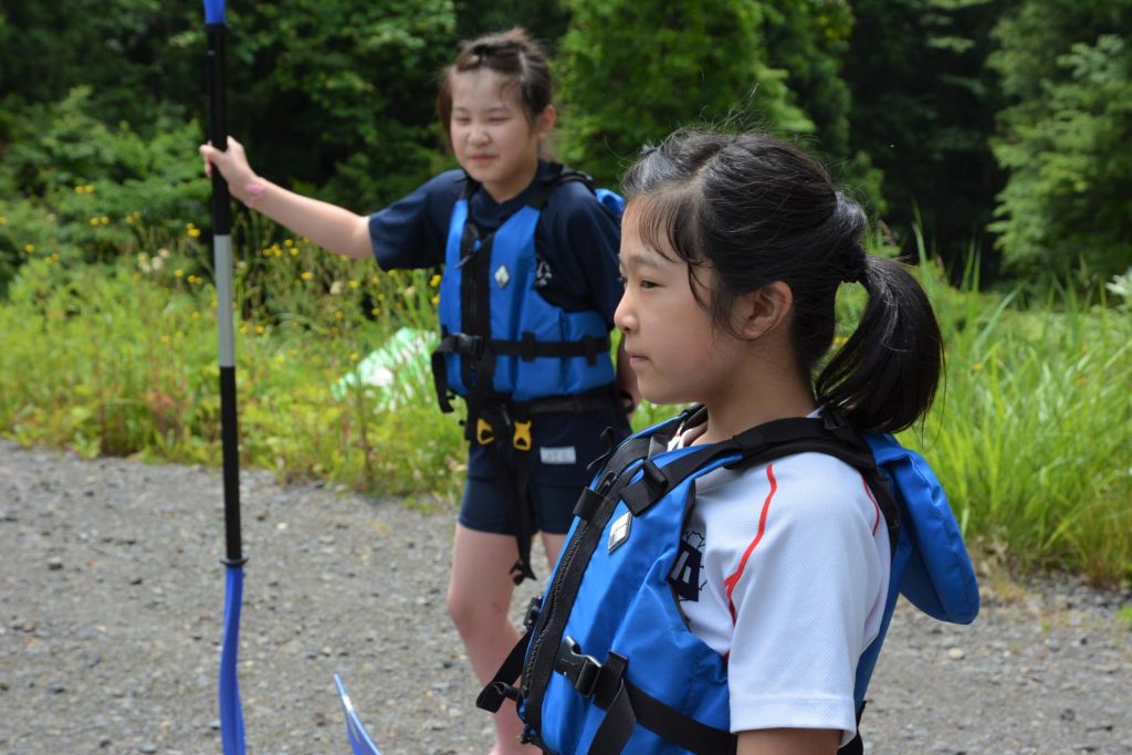
<instances>
[{"instance_id":1,"label":"white sports shirt with red piping under foreground girl's life vest","mask_svg":"<svg viewBox=\"0 0 1132 755\"><path fill-rule=\"evenodd\" d=\"M849 741L857 661L880 630L891 566L860 472L796 454L709 472L695 496L671 580L692 632L728 658L731 730L840 729Z\"/></svg>"}]
</instances>

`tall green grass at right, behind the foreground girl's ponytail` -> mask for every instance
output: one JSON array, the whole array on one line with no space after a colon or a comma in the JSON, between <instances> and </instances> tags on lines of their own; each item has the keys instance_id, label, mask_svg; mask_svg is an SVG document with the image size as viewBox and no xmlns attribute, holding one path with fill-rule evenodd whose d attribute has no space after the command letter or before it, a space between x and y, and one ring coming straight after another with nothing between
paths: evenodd
<instances>
[{"instance_id":1,"label":"tall green grass at right, behind the foreground girl's ponytail","mask_svg":"<svg viewBox=\"0 0 1132 755\"><path fill-rule=\"evenodd\" d=\"M1041 307L921 281L944 333L936 406L903 440L938 474L968 537L1024 570L1132 578L1132 317L1052 288ZM1101 292L1103 293L1103 292Z\"/></svg>"}]
</instances>

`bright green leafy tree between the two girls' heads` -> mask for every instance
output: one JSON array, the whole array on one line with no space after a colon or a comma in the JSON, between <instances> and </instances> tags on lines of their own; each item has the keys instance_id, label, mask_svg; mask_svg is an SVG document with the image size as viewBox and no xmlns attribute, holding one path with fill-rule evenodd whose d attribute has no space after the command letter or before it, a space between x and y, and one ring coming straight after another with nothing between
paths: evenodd
<instances>
[{"instance_id":1,"label":"bright green leafy tree between the two girls' heads","mask_svg":"<svg viewBox=\"0 0 1132 755\"><path fill-rule=\"evenodd\" d=\"M729 117L794 134L813 121L767 62L749 0L572 0L563 40L563 157L616 185L641 146Z\"/></svg>"}]
</instances>

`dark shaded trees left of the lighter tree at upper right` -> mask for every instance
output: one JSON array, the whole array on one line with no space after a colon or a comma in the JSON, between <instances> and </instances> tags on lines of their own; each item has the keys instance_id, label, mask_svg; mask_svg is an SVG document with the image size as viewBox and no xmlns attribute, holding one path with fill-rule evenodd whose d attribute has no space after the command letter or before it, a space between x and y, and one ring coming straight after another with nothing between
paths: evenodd
<instances>
[{"instance_id":1,"label":"dark shaded trees left of the lighter tree at upper right","mask_svg":"<svg viewBox=\"0 0 1132 755\"><path fill-rule=\"evenodd\" d=\"M850 137L884 175L902 246L919 225L961 268L985 246L1001 187L988 138L997 88L985 60L1001 0L857 0L844 76ZM985 256L989 258L989 255Z\"/></svg>"}]
</instances>

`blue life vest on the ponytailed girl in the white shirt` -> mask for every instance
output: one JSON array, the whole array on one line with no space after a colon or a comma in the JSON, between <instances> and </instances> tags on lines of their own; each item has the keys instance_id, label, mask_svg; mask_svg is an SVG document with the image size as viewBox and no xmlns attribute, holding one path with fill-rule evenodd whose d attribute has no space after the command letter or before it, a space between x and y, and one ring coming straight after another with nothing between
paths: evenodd
<instances>
[{"instance_id":1,"label":"blue life vest on the ponytailed girl in the white shirt","mask_svg":"<svg viewBox=\"0 0 1132 755\"><path fill-rule=\"evenodd\" d=\"M974 570L931 469L892 436L863 440L837 414L770 422L729 441L667 451L696 407L619 446L578 501L563 555L526 636L478 703L520 704L525 738L547 752L734 753L727 666L687 627L669 580L695 480L817 451L868 481L893 543L877 638L858 662L858 715L897 597L935 618L978 612ZM522 675L522 689L514 688ZM850 749L855 745L856 749ZM860 752L860 740L844 752Z\"/></svg>"}]
</instances>

